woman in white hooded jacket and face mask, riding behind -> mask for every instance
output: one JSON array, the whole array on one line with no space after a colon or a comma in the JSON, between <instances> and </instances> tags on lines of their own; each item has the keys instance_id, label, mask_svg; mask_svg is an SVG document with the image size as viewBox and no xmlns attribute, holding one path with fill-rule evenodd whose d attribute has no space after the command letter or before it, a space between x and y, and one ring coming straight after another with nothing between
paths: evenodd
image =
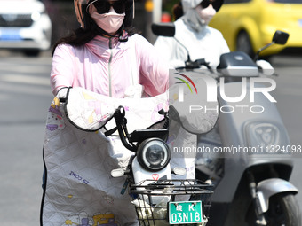
<instances>
[{"instance_id":1,"label":"woman in white hooded jacket and face mask, riding behind","mask_svg":"<svg viewBox=\"0 0 302 226\"><path fill-rule=\"evenodd\" d=\"M213 68L219 65L220 55L229 49L221 33L208 24L222 4L223 0L181 0L174 6L174 37L160 36L155 42L171 67L184 66L188 53L192 61L204 58Z\"/></svg>"}]
</instances>

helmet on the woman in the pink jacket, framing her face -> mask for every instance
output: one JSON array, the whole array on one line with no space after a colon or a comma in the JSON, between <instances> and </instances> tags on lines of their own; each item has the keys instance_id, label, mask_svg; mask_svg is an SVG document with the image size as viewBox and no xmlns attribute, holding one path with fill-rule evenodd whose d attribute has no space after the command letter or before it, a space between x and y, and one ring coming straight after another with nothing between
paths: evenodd
<instances>
[{"instance_id":1,"label":"helmet on the woman in the pink jacket, framing her face","mask_svg":"<svg viewBox=\"0 0 302 226\"><path fill-rule=\"evenodd\" d=\"M87 29L91 26L91 16L87 11L87 7L96 1L107 1L107 0L74 0L76 19L80 23L83 29ZM134 0L120 0L124 1L126 4L126 15L124 18L124 27L130 27L133 19L133 2Z\"/></svg>"}]
</instances>

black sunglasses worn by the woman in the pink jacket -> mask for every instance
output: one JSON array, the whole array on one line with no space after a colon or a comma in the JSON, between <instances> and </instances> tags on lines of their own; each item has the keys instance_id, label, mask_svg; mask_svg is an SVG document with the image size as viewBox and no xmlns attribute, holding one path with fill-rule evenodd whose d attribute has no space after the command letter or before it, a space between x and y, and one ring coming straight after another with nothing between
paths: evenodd
<instances>
[{"instance_id":1,"label":"black sunglasses worn by the woman in the pink jacket","mask_svg":"<svg viewBox=\"0 0 302 226\"><path fill-rule=\"evenodd\" d=\"M104 14L110 11L111 6L114 8L115 12L118 14L122 14L126 12L126 4L125 1L109 1L99 0L93 3L97 12L99 14Z\"/></svg>"}]
</instances>

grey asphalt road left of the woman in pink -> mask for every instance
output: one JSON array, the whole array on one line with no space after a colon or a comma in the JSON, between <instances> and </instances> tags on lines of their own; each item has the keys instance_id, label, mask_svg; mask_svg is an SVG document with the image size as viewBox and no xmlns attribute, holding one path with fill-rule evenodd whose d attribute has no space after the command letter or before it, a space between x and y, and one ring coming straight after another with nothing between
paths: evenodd
<instances>
[{"instance_id":1,"label":"grey asphalt road left of the woman in pink","mask_svg":"<svg viewBox=\"0 0 302 226\"><path fill-rule=\"evenodd\" d=\"M1 225L39 225L51 58L0 58Z\"/></svg>"}]
</instances>

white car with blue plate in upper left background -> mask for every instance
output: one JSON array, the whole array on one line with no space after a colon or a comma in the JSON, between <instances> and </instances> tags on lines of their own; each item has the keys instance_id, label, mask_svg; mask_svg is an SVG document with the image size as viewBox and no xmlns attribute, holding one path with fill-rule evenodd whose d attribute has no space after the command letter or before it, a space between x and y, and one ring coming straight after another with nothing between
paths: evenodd
<instances>
[{"instance_id":1,"label":"white car with blue plate in upper left background","mask_svg":"<svg viewBox=\"0 0 302 226\"><path fill-rule=\"evenodd\" d=\"M0 0L0 48L36 56L51 46L52 22L37 0Z\"/></svg>"}]
</instances>

